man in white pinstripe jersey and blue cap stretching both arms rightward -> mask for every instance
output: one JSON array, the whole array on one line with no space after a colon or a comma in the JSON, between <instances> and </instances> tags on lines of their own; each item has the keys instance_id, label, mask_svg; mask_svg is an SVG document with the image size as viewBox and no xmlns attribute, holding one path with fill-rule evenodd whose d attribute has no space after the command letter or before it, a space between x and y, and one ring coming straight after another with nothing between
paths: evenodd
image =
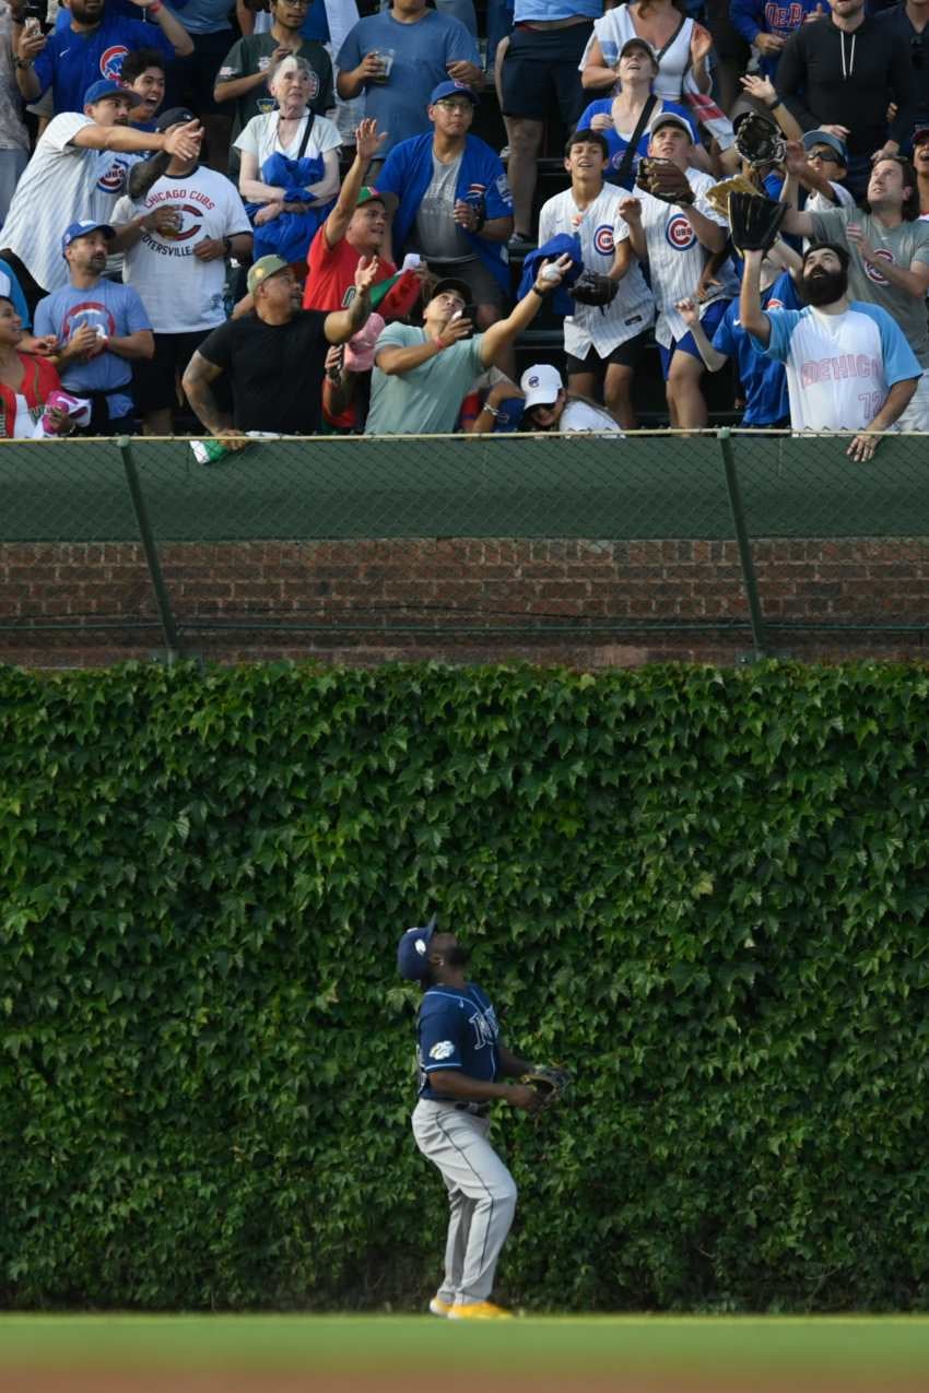
<instances>
[{"instance_id":1,"label":"man in white pinstripe jersey and blue cap stretching both arms rightward","mask_svg":"<svg viewBox=\"0 0 929 1393\"><path fill-rule=\"evenodd\" d=\"M0 256L13 266L35 309L43 295L68 283L61 256L61 227L68 223L110 223L113 205L127 187L134 156L150 150L196 160L199 121L163 134L134 131L130 111L135 92L117 82L95 82L84 93L84 114L63 111L36 145L3 224ZM118 249L118 238L110 244Z\"/></svg>"}]
</instances>

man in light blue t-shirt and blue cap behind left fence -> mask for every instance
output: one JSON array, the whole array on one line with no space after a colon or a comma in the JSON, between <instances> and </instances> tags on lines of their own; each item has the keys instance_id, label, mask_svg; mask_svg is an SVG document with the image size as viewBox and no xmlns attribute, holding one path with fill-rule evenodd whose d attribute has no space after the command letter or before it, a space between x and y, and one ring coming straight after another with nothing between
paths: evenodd
<instances>
[{"instance_id":1,"label":"man in light blue t-shirt and blue cap behind left fence","mask_svg":"<svg viewBox=\"0 0 929 1393\"><path fill-rule=\"evenodd\" d=\"M91 401L88 435L135 430L132 362L155 352L145 305L131 286L107 280L104 223L72 223L61 238L70 284L40 299L36 334L54 334L61 386Z\"/></svg>"}]
</instances>

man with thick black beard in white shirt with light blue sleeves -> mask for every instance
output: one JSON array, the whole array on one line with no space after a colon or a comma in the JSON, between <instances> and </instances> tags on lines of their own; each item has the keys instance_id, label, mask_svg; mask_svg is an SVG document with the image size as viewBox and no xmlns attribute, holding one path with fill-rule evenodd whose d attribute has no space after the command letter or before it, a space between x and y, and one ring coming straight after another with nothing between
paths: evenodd
<instances>
[{"instance_id":1,"label":"man with thick black beard in white shirt with light blue sleeves","mask_svg":"<svg viewBox=\"0 0 929 1393\"><path fill-rule=\"evenodd\" d=\"M794 430L857 430L845 451L871 460L903 415L922 373L910 344L879 305L848 298L848 252L813 242L804 254L804 309L767 315L759 304L763 252L745 252L742 327L787 368Z\"/></svg>"}]
</instances>

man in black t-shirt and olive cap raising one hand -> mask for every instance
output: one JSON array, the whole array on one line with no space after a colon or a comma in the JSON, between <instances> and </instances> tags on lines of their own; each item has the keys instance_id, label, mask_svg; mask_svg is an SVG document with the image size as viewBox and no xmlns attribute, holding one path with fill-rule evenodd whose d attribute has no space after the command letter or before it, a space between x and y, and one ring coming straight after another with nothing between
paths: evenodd
<instances>
[{"instance_id":1,"label":"man in black t-shirt and olive cap raising one hand","mask_svg":"<svg viewBox=\"0 0 929 1393\"><path fill-rule=\"evenodd\" d=\"M206 429L231 449L248 443L248 430L316 435L329 345L347 343L362 327L376 277L377 259L361 260L348 309L325 315L299 308L299 284L280 256L256 260L248 273L255 309L212 333L184 373L184 391ZM233 389L231 421L210 389L223 373Z\"/></svg>"}]
</instances>

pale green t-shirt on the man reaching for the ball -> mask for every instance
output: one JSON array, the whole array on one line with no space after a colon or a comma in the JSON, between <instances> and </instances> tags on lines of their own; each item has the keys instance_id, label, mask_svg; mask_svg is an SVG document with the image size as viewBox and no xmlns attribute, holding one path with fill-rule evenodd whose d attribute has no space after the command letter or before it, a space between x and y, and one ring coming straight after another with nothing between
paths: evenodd
<instances>
[{"instance_id":1,"label":"pale green t-shirt on the man reaching for the ball","mask_svg":"<svg viewBox=\"0 0 929 1393\"><path fill-rule=\"evenodd\" d=\"M485 371L481 362L482 337L462 338L426 358L418 368L390 378L375 361L366 433L451 435L458 425L461 403ZM387 325L375 345L375 359L382 348L411 348L425 341L425 329Z\"/></svg>"}]
</instances>

